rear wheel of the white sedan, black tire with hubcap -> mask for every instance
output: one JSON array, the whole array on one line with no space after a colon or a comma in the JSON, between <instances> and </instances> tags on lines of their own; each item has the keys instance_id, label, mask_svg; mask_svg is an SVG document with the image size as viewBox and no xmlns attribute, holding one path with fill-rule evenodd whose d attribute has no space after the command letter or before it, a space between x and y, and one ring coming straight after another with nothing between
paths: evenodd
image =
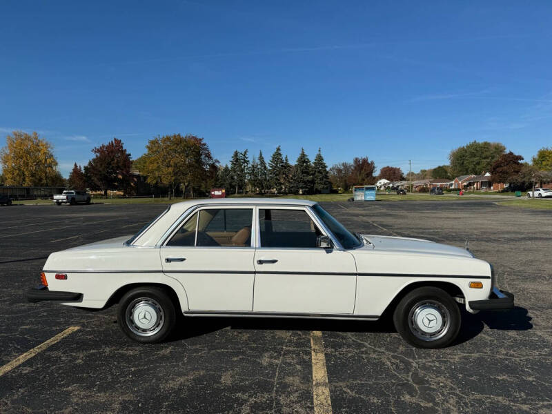
<instances>
[{"instance_id":1,"label":"rear wheel of the white sedan, black tire with hubcap","mask_svg":"<svg viewBox=\"0 0 552 414\"><path fill-rule=\"evenodd\" d=\"M137 320L141 317L144 317L144 324ZM162 288L135 288L119 302L117 322L121 331L133 341L155 344L163 341L175 327L175 304Z\"/></svg>"}]
</instances>

